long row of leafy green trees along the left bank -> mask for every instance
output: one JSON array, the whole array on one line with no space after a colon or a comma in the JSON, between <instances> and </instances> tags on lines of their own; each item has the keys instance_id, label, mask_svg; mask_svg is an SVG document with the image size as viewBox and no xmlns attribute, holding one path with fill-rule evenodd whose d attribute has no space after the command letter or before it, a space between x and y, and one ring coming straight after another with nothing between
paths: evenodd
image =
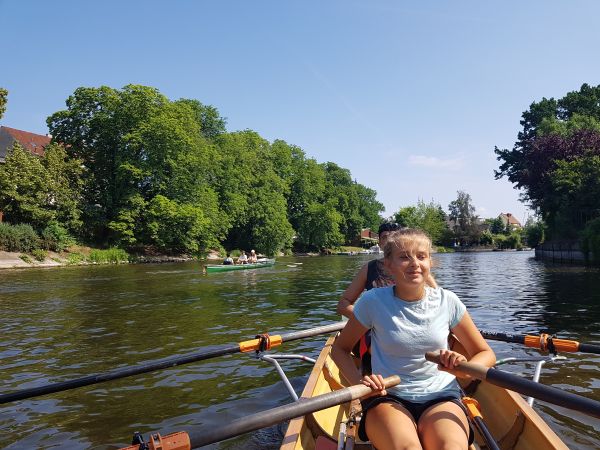
<instances>
[{"instance_id":1,"label":"long row of leafy green trees along the left bank","mask_svg":"<svg viewBox=\"0 0 600 450\"><path fill-rule=\"evenodd\" d=\"M228 132L212 106L157 89L78 88L52 114L42 158L15 145L0 210L95 246L201 254L319 250L377 228L376 192L282 140Z\"/></svg>"}]
</instances>

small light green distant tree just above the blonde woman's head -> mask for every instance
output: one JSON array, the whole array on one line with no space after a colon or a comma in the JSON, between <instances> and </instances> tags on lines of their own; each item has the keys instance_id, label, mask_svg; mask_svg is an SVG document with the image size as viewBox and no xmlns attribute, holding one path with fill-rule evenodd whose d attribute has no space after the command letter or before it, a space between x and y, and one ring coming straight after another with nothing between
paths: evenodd
<instances>
[{"instance_id":1,"label":"small light green distant tree just above the blonde woman's head","mask_svg":"<svg viewBox=\"0 0 600 450\"><path fill-rule=\"evenodd\" d=\"M420 228L427 233L434 244L442 243L448 229L446 214L441 205L433 201L426 204L419 200L417 206L401 208L394 214L394 220L404 227Z\"/></svg>"}]
</instances>

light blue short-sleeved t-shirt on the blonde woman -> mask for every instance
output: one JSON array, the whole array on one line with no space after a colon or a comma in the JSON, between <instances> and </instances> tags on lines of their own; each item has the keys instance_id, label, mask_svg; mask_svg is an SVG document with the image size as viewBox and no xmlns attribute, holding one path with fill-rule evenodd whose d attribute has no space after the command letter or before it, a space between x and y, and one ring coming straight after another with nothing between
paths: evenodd
<instances>
[{"instance_id":1,"label":"light blue short-sleeved t-shirt on the blonde woman","mask_svg":"<svg viewBox=\"0 0 600 450\"><path fill-rule=\"evenodd\" d=\"M413 302L397 298L393 286L371 289L354 305L356 319L372 330L373 373L399 375L400 384L388 391L419 402L460 392L454 375L438 370L425 352L448 348L448 334L465 311L454 292L430 287Z\"/></svg>"}]
</instances>

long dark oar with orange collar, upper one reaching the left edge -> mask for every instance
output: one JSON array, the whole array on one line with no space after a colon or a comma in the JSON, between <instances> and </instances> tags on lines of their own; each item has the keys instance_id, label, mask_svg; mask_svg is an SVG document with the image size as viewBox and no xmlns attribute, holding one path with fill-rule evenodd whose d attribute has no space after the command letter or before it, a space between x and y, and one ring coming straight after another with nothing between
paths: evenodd
<instances>
[{"instance_id":1,"label":"long dark oar with orange collar, upper one reaching the left edge","mask_svg":"<svg viewBox=\"0 0 600 450\"><path fill-rule=\"evenodd\" d=\"M175 356L167 359L162 359L156 362L140 364L137 366L125 367L122 369L112 370L110 372L88 375L83 378L77 378L70 381L62 381L60 383L48 384L21 391L11 392L8 394L0 394L0 404L14 402L15 400L23 400L26 398L37 397L40 395L50 394L53 392L66 391L90 384L102 383L104 381L116 380L119 378L130 377L141 373L152 372L154 370L166 369L169 367L180 366L196 361L215 358L217 356L229 355L232 353L246 353L253 350L265 349L268 350L276 345L281 345L283 342L295 341L306 337L317 336L319 334L332 333L344 328L345 322L336 322L330 325L325 325L317 328L310 328L303 331L293 331L287 334L268 336L263 338L251 339L238 344L226 344L211 349L205 349L187 355Z\"/></svg>"}]
</instances>

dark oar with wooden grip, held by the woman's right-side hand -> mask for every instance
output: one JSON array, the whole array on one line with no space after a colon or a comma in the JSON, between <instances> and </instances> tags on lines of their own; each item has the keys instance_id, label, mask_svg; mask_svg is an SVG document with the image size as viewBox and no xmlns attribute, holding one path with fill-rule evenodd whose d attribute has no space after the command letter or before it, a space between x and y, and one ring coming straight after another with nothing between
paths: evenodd
<instances>
[{"instance_id":1,"label":"dark oar with wooden grip, held by the woman's right-side hand","mask_svg":"<svg viewBox=\"0 0 600 450\"><path fill-rule=\"evenodd\" d=\"M440 363L439 352L427 352L425 358L427 361ZM481 364L461 362L455 369L478 380L600 419L599 401L536 383L499 369L490 369Z\"/></svg>"}]
</instances>

